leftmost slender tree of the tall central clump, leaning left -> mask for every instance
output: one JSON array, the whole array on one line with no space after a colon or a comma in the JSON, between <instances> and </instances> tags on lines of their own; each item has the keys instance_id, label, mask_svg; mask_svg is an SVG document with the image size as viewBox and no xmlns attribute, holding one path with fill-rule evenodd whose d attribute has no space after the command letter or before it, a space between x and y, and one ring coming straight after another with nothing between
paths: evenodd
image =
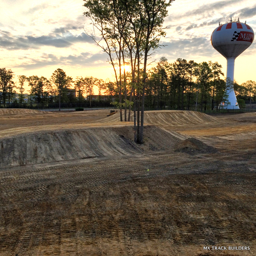
<instances>
[{"instance_id":1,"label":"leftmost slender tree of the tall central clump, leaning left","mask_svg":"<svg viewBox=\"0 0 256 256\"><path fill-rule=\"evenodd\" d=\"M92 21L93 30L100 33L100 40L97 40L97 36L93 34L89 35L94 42L100 46L104 52L109 56L109 62L111 63L115 78L116 85L119 93L119 109L120 109L120 121L122 121L122 59L124 55L124 41L123 32L126 27L125 22L120 22L122 20L127 20L126 15L122 10L121 1L108 1L108 0L84 0L84 6L87 10L84 15ZM122 18L122 19L120 19ZM117 63L116 63L117 59ZM118 70L116 66L119 67L119 77Z\"/></svg>"}]
</instances>

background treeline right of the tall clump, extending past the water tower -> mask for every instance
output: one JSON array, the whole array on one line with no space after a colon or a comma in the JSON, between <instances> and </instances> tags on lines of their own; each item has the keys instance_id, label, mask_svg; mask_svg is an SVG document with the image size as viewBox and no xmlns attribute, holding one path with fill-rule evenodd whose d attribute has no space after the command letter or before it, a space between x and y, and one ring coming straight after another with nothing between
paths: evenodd
<instances>
[{"instance_id":1,"label":"background treeline right of the tall clump, extending past the water tower","mask_svg":"<svg viewBox=\"0 0 256 256\"><path fill-rule=\"evenodd\" d=\"M149 71L145 104L152 109L200 110L218 108L227 102L226 80L218 62L186 61L178 58L168 63L162 57L157 66ZM237 101L240 107L256 100L255 81L241 85L234 82Z\"/></svg>"}]
</instances>

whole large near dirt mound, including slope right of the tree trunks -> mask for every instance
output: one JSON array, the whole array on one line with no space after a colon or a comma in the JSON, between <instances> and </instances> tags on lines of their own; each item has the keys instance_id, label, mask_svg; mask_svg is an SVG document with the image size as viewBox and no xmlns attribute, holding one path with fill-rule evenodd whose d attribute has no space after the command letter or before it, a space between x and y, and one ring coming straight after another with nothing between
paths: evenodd
<instances>
[{"instance_id":1,"label":"whole large near dirt mound, including slope right of the tree trunks","mask_svg":"<svg viewBox=\"0 0 256 256\"><path fill-rule=\"evenodd\" d=\"M91 127L26 133L0 139L0 168L103 156L132 156L168 150L180 141L155 126L145 126L145 144L133 140L133 127Z\"/></svg>"}]
</instances>

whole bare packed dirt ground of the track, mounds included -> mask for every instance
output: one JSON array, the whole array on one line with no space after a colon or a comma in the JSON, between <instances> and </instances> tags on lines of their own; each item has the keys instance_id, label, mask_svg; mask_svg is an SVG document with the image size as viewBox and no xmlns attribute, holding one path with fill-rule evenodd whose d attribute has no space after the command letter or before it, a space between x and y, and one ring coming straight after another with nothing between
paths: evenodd
<instances>
[{"instance_id":1,"label":"whole bare packed dirt ground of the track, mounds included","mask_svg":"<svg viewBox=\"0 0 256 256\"><path fill-rule=\"evenodd\" d=\"M256 255L255 113L108 113L0 109L1 256Z\"/></svg>"}]
</instances>

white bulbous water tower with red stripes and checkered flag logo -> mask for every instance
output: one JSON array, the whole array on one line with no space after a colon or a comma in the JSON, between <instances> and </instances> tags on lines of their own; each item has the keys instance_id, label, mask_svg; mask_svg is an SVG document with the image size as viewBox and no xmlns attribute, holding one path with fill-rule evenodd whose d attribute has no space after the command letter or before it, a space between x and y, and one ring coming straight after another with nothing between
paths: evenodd
<instances>
[{"instance_id":1,"label":"white bulbous water tower with red stripes and checkered flag logo","mask_svg":"<svg viewBox=\"0 0 256 256\"><path fill-rule=\"evenodd\" d=\"M226 93L229 103L224 104L226 109L239 109L233 88L235 58L252 44L253 39L253 29L246 22L240 22L239 18L219 23L211 35L213 48L227 59Z\"/></svg>"}]
</instances>

